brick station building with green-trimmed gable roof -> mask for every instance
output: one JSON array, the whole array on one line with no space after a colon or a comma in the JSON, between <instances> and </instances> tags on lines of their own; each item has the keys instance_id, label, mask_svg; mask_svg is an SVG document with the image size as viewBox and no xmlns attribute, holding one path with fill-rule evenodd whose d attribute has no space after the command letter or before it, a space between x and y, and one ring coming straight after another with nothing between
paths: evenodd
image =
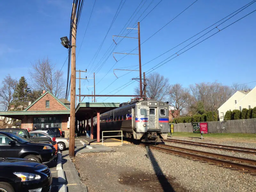
<instances>
[{"instance_id":1,"label":"brick station building with green-trimmed gable roof","mask_svg":"<svg viewBox=\"0 0 256 192\"><path fill-rule=\"evenodd\" d=\"M0 116L21 120L21 128L31 131L36 128L58 127L69 132L70 103L56 98L51 92L43 94L23 111L0 111Z\"/></svg>"}]
</instances>

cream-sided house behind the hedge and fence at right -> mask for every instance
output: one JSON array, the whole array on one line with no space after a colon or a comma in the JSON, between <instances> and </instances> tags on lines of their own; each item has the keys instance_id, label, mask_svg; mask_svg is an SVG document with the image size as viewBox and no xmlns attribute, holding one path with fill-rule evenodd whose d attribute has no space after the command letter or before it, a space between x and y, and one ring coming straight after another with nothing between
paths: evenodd
<instances>
[{"instance_id":1,"label":"cream-sided house behind the hedge and fence at right","mask_svg":"<svg viewBox=\"0 0 256 192\"><path fill-rule=\"evenodd\" d=\"M233 111L234 109L242 111L243 108L250 109L254 107L256 107L256 87L250 92L237 91L218 108L220 121L224 121L227 111Z\"/></svg>"}]
</instances>

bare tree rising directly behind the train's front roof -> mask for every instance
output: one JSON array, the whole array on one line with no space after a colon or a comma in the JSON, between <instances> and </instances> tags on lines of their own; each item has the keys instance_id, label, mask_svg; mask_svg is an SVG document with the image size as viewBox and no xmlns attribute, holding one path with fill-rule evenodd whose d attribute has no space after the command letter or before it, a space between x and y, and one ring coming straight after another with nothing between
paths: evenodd
<instances>
[{"instance_id":1,"label":"bare tree rising directly behind the train's front roof","mask_svg":"<svg viewBox=\"0 0 256 192\"><path fill-rule=\"evenodd\" d=\"M151 73L146 77L146 95L154 100L165 101L169 93L169 80L159 73ZM140 88L135 87L135 94L140 94Z\"/></svg>"}]
</instances>

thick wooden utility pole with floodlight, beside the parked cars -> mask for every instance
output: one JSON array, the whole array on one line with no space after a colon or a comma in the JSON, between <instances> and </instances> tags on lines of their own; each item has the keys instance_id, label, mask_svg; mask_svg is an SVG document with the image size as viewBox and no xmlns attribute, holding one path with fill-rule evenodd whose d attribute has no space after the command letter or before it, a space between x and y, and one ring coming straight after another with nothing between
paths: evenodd
<instances>
[{"instance_id":1,"label":"thick wooden utility pole with floodlight, beside the parked cars","mask_svg":"<svg viewBox=\"0 0 256 192\"><path fill-rule=\"evenodd\" d=\"M73 6L74 18L71 34L71 90L70 90L70 129L69 129L69 156L75 156L75 100L76 100L76 5Z\"/></svg>"}]
</instances>

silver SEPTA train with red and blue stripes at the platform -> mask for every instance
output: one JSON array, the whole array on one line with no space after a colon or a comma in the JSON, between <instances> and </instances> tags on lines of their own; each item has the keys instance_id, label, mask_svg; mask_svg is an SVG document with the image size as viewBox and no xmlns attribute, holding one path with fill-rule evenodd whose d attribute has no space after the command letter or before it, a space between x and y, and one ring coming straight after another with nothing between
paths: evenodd
<instances>
[{"instance_id":1,"label":"silver SEPTA train with red and blue stripes at the platform","mask_svg":"<svg viewBox=\"0 0 256 192\"><path fill-rule=\"evenodd\" d=\"M168 102L137 100L100 115L100 131L123 131L123 136L144 142L167 139ZM112 133L113 134L113 133Z\"/></svg>"}]
</instances>

